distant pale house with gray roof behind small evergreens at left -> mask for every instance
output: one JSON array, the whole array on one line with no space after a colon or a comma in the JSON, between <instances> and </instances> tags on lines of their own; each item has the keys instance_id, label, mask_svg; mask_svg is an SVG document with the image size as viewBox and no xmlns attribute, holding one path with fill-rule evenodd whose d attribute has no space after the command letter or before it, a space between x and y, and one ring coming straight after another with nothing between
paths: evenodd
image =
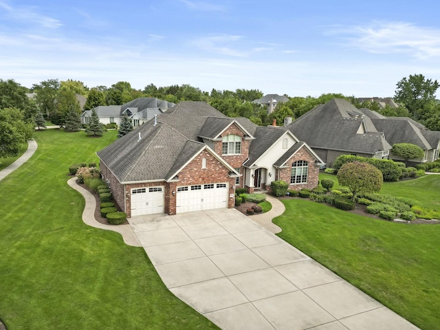
<instances>
[{"instance_id":1,"label":"distant pale house with gray roof behind small evergreens at left","mask_svg":"<svg viewBox=\"0 0 440 330\"><path fill-rule=\"evenodd\" d=\"M157 98L136 98L122 105L108 105L95 107L96 113L102 124L115 122L120 124L123 115L126 113L131 119L133 126L140 126L154 118L155 115L173 107L173 102L158 100ZM91 117L91 110L86 110L81 114L81 122L87 124Z\"/></svg>"}]
</instances>

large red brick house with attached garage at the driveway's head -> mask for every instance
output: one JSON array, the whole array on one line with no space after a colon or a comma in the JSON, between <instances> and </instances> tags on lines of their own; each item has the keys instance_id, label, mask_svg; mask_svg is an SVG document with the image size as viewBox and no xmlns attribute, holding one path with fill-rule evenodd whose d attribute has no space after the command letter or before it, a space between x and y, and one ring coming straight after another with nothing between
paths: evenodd
<instances>
[{"instance_id":1,"label":"large red brick house with attached garage at the driveway's head","mask_svg":"<svg viewBox=\"0 0 440 330\"><path fill-rule=\"evenodd\" d=\"M288 129L180 102L98 152L102 177L128 217L232 208L235 188L318 186L322 160Z\"/></svg>"}]
</instances>

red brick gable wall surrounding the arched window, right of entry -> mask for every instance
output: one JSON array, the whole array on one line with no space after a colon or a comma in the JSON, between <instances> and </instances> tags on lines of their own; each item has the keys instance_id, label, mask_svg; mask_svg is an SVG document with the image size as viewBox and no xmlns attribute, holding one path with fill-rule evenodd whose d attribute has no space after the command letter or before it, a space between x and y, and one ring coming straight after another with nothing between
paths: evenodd
<instances>
[{"instance_id":1,"label":"red brick gable wall surrounding the arched window, right of entry","mask_svg":"<svg viewBox=\"0 0 440 330\"><path fill-rule=\"evenodd\" d=\"M290 177L292 176L292 164L298 160L305 160L309 162L309 172L307 173L307 183L304 184L290 184ZM300 148L295 155L293 155L287 162L287 168L280 168L277 170L277 177L280 180L289 183L289 189L301 190L303 188L313 189L318 186L319 181L319 166L315 164L315 158L307 151L306 148ZM279 176L278 176L279 175Z\"/></svg>"}]
</instances>

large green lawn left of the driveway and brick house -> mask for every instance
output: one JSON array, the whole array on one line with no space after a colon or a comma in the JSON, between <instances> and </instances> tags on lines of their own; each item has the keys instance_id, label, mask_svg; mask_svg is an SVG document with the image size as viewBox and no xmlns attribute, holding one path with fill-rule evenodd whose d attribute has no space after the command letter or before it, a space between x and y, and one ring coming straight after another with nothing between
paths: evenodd
<instances>
[{"instance_id":1,"label":"large green lawn left of the driveway and brick house","mask_svg":"<svg viewBox=\"0 0 440 330\"><path fill-rule=\"evenodd\" d=\"M0 181L0 318L17 329L217 329L171 294L142 248L83 223L68 167L97 162L117 131L36 131L32 158Z\"/></svg>"}]
</instances>

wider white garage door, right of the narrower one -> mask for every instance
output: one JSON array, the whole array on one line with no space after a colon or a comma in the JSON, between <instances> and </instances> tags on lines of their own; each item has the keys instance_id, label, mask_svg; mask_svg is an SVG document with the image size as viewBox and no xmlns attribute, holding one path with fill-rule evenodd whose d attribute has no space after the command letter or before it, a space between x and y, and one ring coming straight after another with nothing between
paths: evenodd
<instances>
[{"instance_id":1,"label":"wider white garage door, right of the narrower one","mask_svg":"<svg viewBox=\"0 0 440 330\"><path fill-rule=\"evenodd\" d=\"M196 184L178 186L176 213L227 208L228 184Z\"/></svg>"}]
</instances>

